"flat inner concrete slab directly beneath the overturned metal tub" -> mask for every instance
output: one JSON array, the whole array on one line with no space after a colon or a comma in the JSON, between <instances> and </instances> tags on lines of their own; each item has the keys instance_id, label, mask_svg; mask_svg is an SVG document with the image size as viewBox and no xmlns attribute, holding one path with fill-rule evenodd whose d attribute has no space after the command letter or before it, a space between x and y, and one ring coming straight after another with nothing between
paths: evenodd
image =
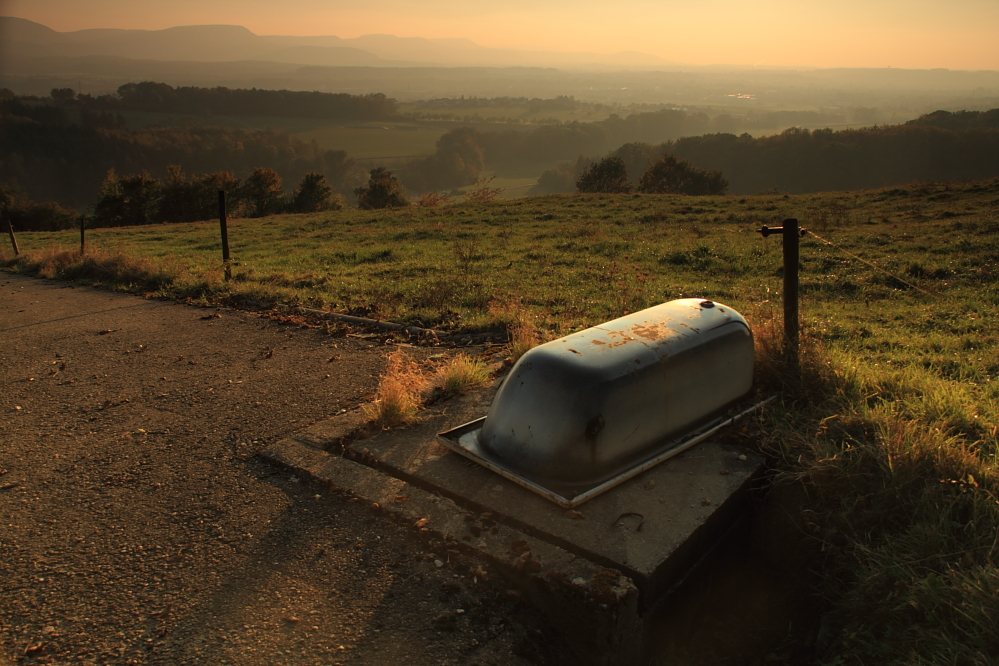
<instances>
[{"instance_id":1,"label":"flat inner concrete slab directly beneath the overturned metal tub","mask_svg":"<svg viewBox=\"0 0 999 666\"><path fill-rule=\"evenodd\" d=\"M707 440L566 511L436 441L438 432L486 413L491 390L427 410L419 425L349 444L389 473L627 574L652 599L669 589L744 507L743 491L763 459Z\"/></svg>"}]
</instances>

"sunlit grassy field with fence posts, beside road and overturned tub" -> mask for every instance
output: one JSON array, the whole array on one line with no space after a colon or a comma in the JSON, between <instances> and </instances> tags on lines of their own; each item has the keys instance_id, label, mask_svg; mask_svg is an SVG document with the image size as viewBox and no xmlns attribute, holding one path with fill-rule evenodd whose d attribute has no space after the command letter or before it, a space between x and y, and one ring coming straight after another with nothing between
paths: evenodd
<instances>
[{"instance_id":1,"label":"sunlit grassy field with fence posts, beside road and overturned tub","mask_svg":"<svg viewBox=\"0 0 999 666\"><path fill-rule=\"evenodd\" d=\"M999 661L997 213L999 181L539 197L234 220L229 283L210 222L94 230L100 250L83 260L73 233L20 234L21 257L5 249L0 265L451 330L528 322L544 337L673 298L727 303L754 325L761 388L782 391L761 447L775 483L801 491L795 522L815 546L834 636L815 663L988 664ZM813 232L800 374L776 344L780 240L755 233L786 217Z\"/></svg>"}]
</instances>

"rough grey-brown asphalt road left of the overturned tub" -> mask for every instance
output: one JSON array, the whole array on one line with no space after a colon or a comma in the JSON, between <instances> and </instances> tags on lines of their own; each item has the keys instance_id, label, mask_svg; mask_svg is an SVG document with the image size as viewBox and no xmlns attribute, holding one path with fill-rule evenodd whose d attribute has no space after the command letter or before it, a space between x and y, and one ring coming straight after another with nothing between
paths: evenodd
<instances>
[{"instance_id":1,"label":"rough grey-brown asphalt road left of the overturned tub","mask_svg":"<svg viewBox=\"0 0 999 666\"><path fill-rule=\"evenodd\" d=\"M256 456L385 353L0 273L0 663L551 663L502 585Z\"/></svg>"}]
</instances>

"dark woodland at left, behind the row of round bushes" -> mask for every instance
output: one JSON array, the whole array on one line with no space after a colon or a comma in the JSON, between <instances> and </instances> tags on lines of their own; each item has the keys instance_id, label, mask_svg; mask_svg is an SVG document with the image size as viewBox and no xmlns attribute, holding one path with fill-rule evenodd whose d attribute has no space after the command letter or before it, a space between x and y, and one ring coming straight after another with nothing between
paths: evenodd
<instances>
[{"instance_id":1,"label":"dark woodland at left, behind the row of round bushes","mask_svg":"<svg viewBox=\"0 0 999 666\"><path fill-rule=\"evenodd\" d=\"M111 111L0 91L0 183L26 199L82 209L95 203L109 169L167 178L171 165L233 174L264 167L292 182L315 172L343 195L350 195L366 176L346 152L322 150L280 130L130 130Z\"/></svg>"}]
</instances>

